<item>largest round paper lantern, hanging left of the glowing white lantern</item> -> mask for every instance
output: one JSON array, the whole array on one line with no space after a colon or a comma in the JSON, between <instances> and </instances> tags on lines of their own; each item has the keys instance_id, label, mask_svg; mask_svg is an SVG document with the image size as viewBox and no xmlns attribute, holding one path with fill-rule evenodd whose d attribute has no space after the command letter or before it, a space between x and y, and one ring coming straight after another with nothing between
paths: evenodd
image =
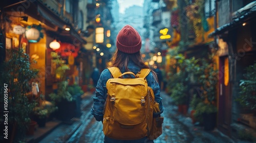
<instances>
[{"instance_id":1,"label":"largest round paper lantern, hanging left of the glowing white lantern","mask_svg":"<svg viewBox=\"0 0 256 143\"><path fill-rule=\"evenodd\" d=\"M42 28L40 25L28 26L25 32L26 39L31 43L38 42L41 38L44 37L44 33L41 32Z\"/></svg>"}]
</instances>

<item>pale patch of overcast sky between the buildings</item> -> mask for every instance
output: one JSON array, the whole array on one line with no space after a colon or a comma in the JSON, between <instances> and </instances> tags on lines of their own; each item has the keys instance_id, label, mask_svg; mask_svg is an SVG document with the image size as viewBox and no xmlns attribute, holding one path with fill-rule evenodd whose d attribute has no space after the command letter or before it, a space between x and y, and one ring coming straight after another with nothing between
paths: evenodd
<instances>
[{"instance_id":1,"label":"pale patch of overcast sky between the buildings","mask_svg":"<svg viewBox=\"0 0 256 143\"><path fill-rule=\"evenodd\" d=\"M126 8L133 5L142 7L144 0L117 0L117 2L119 3L119 12L124 13Z\"/></svg>"}]
</instances>

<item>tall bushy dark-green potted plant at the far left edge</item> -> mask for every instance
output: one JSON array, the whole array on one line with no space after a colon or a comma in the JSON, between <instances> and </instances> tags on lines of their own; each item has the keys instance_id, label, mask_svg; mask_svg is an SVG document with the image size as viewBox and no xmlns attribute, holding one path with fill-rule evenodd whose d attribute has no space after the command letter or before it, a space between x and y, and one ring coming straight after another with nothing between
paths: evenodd
<instances>
[{"instance_id":1,"label":"tall bushy dark-green potted plant at the far left edge","mask_svg":"<svg viewBox=\"0 0 256 143\"><path fill-rule=\"evenodd\" d=\"M8 135L10 142L15 142L25 136L31 122L30 114L35 104L28 100L27 95L31 91L31 80L37 76L38 69L31 68L30 57L22 49L8 52L11 53L10 60L0 65L0 81L4 85L4 88L0 88L3 95L0 102L1 105L8 104ZM3 110L1 108L1 112Z\"/></svg>"}]
</instances>

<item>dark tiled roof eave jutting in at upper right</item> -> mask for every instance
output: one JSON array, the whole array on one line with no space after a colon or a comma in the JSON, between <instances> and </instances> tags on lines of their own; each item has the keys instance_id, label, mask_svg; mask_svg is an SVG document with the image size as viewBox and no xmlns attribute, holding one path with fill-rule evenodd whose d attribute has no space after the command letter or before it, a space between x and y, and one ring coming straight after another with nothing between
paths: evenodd
<instances>
[{"instance_id":1,"label":"dark tiled roof eave jutting in at upper right","mask_svg":"<svg viewBox=\"0 0 256 143\"><path fill-rule=\"evenodd\" d=\"M244 8L242 8L242 9L244 9ZM233 19L233 21L231 21L230 23L227 23L226 25L223 25L222 27L217 28L214 32L210 33L208 35L208 37L211 38L215 35L220 35L226 31L231 31L233 29L236 29L236 28L242 26L242 24L244 22L247 22L250 19L256 17L256 6L255 5L253 5L251 8L245 9L244 11L241 11L241 9L238 11L234 12L234 13L236 13L236 15L234 16L235 18ZM244 14L240 15L241 13L244 13Z\"/></svg>"}]
</instances>

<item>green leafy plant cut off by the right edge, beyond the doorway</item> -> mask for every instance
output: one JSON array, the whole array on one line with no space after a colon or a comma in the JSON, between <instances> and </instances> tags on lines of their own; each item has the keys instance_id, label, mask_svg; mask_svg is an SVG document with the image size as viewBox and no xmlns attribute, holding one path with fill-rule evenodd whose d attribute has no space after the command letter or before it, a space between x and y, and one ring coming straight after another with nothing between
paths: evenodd
<instances>
[{"instance_id":1,"label":"green leafy plant cut off by the right edge, beyond the doorway","mask_svg":"<svg viewBox=\"0 0 256 143\"><path fill-rule=\"evenodd\" d=\"M251 110L256 109L256 62L245 68L244 79L240 80L240 92L236 101Z\"/></svg>"}]
</instances>

